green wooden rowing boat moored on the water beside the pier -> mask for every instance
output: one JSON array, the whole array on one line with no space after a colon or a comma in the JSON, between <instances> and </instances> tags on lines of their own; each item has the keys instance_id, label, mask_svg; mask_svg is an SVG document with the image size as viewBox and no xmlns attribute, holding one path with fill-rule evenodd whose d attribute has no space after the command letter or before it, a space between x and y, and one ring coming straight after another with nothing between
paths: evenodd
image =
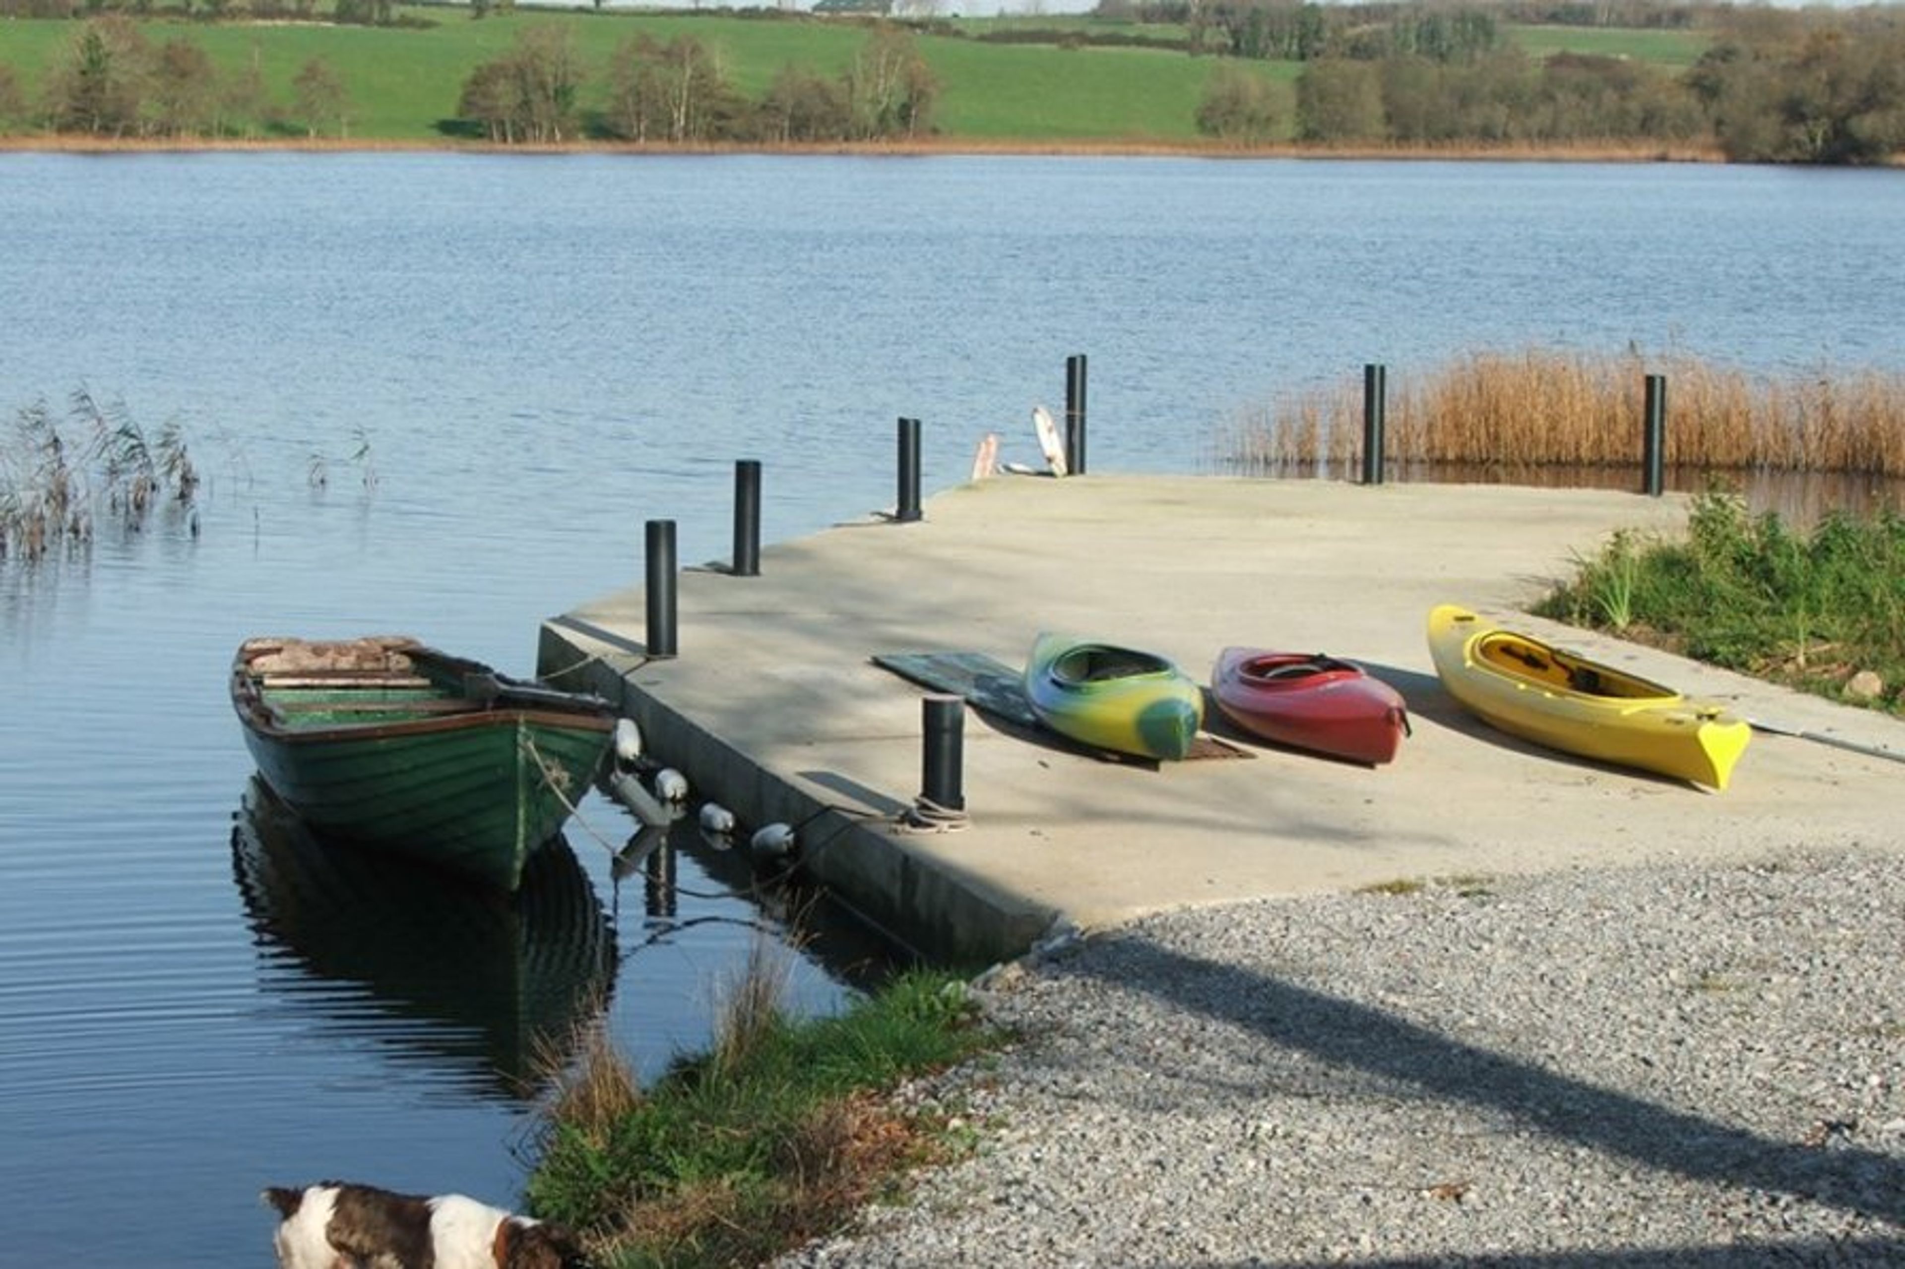
<instances>
[{"instance_id":1,"label":"green wooden rowing boat moored on the water beside the pier","mask_svg":"<svg viewBox=\"0 0 1905 1269\"><path fill-rule=\"evenodd\" d=\"M314 829L516 890L615 726L596 695L408 636L250 638L232 705L259 776Z\"/></svg>"}]
</instances>

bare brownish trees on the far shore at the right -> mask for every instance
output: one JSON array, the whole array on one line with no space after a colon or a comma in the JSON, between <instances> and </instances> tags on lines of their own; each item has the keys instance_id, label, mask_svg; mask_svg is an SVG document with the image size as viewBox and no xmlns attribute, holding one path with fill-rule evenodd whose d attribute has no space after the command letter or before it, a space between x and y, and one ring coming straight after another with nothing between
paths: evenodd
<instances>
[{"instance_id":1,"label":"bare brownish trees on the far shore at the right","mask_svg":"<svg viewBox=\"0 0 1905 1269\"><path fill-rule=\"evenodd\" d=\"M1316 6L1271 6L1284 17ZM1311 145L1713 143L1735 162L1882 164L1905 151L1899 10L1737 10L1684 72L1625 57L1532 57L1444 11L1429 36L1303 57L1293 93L1227 57L1206 135ZM1286 27L1276 27L1284 30ZM1295 29L1295 27L1288 27Z\"/></svg>"}]
</instances>

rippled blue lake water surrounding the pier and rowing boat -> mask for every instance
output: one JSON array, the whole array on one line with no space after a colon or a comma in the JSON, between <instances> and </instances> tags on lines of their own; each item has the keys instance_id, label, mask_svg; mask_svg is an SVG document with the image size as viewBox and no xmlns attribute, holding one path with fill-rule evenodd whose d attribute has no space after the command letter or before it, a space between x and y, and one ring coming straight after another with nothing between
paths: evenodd
<instances>
[{"instance_id":1,"label":"rippled blue lake water surrounding the pier and rowing boat","mask_svg":"<svg viewBox=\"0 0 1905 1269\"><path fill-rule=\"evenodd\" d=\"M0 154L0 412L177 421L196 514L0 560L8 1263L257 1265L267 1181L512 1200L524 1035L707 1035L745 869L615 876L591 798L531 911L246 814L250 634L404 631L533 669L537 623L928 494L1088 354L1093 471L1204 471L1240 412L1528 345L1905 370L1905 173L1099 158ZM661 859L661 856L657 856ZM834 1008L872 951L796 958Z\"/></svg>"}]
</instances>

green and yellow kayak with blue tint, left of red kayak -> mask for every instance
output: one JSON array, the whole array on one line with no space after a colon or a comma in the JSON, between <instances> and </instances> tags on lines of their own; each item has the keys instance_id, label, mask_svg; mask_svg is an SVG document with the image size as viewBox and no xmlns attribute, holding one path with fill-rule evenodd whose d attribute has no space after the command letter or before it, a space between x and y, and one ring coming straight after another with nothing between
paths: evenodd
<instances>
[{"instance_id":1,"label":"green and yellow kayak with blue tint, left of red kayak","mask_svg":"<svg viewBox=\"0 0 1905 1269\"><path fill-rule=\"evenodd\" d=\"M1082 745L1177 760L1204 722L1204 692L1166 657L1042 633L1025 663L1040 722Z\"/></svg>"}]
</instances>

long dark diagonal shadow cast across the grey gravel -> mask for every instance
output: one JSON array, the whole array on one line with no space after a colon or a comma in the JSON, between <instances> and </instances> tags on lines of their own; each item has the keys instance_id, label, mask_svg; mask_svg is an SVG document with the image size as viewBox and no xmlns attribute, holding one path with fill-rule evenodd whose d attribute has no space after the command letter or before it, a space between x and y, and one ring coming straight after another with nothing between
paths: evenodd
<instances>
[{"instance_id":1,"label":"long dark diagonal shadow cast across the grey gravel","mask_svg":"<svg viewBox=\"0 0 1905 1269\"><path fill-rule=\"evenodd\" d=\"M1111 953L1111 955L1105 955ZM1777 1141L1619 1090L1583 1084L1516 1058L1463 1044L1351 1000L1295 987L1236 966L1187 957L1154 943L1101 943L1052 966L1168 998L1318 1061L1415 1086L1436 1098L1505 1113L1556 1139L1619 1155L1684 1178L1766 1189L1890 1223L1905 1223L1905 1160L1850 1145ZM1835 1244L1835 1248L1840 1244ZM1846 1244L1855 1246L1855 1244ZM1890 1244L1884 1248L1890 1250ZM1751 1263L1755 1248L1716 1248L1716 1261ZM1766 1248L1785 1256L1785 1248ZM1410 1261L1372 1261L1410 1263ZM1497 1263L1461 1259L1436 1263ZM1509 1263L1509 1261L1499 1261ZM1661 1263L1589 1256L1514 1263ZM1785 1259L1785 1263L1793 1263ZM1905 1263L1905 1261L1897 1261Z\"/></svg>"}]
</instances>

